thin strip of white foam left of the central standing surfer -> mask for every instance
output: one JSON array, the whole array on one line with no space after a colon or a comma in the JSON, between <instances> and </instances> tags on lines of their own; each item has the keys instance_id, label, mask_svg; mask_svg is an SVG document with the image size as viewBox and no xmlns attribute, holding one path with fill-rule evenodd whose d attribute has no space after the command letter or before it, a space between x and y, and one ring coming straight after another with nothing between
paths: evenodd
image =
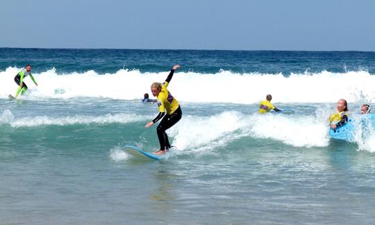
<instances>
[{"instance_id":1,"label":"thin strip of white foam left of the central standing surfer","mask_svg":"<svg viewBox=\"0 0 375 225\"><path fill-rule=\"evenodd\" d=\"M10 110L5 110L0 117L0 123L10 124L12 127L22 127L22 126L42 126L42 125L72 125L72 124L111 124L120 123L127 124L131 122L142 122L149 119L149 117L136 115L136 114L126 114L119 113L115 115L107 114L97 117L76 115L69 117L47 117L47 116L37 116L37 117L22 117L15 118Z\"/></svg>"}]
</instances>

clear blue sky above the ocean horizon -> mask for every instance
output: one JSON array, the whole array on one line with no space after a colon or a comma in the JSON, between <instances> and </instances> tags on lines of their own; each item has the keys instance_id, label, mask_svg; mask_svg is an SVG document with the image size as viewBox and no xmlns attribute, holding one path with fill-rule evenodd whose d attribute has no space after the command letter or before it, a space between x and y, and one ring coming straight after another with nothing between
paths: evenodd
<instances>
[{"instance_id":1,"label":"clear blue sky above the ocean horizon","mask_svg":"<svg viewBox=\"0 0 375 225\"><path fill-rule=\"evenodd\" d=\"M0 47L375 51L372 0L1 0Z\"/></svg>"}]
</instances>

